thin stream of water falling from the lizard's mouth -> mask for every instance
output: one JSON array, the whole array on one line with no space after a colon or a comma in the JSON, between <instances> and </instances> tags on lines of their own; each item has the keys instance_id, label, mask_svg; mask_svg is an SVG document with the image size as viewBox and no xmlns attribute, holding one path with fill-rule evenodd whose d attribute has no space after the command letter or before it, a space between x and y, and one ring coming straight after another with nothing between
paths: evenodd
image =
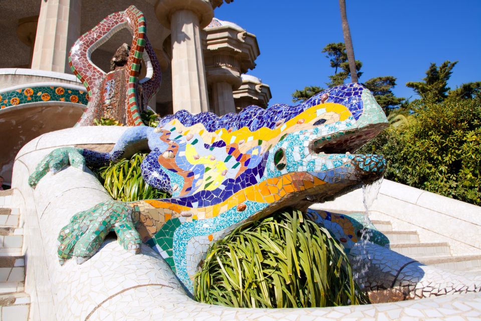
<instances>
[{"instance_id":1,"label":"thin stream of water falling from the lizard's mouth","mask_svg":"<svg viewBox=\"0 0 481 321\"><path fill-rule=\"evenodd\" d=\"M364 219L362 222L363 226L369 226L371 224L369 219L369 208L377 199L382 180L383 178L380 178L372 184L362 186L362 203L364 205ZM366 244L370 242L371 232L368 228L364 228L360 232L361 235L359 236L359 241L357 244L359 255L353 258L352 267L354 280L361 288L363 288L367 281L367 271L369 270L372 260L371 255L366 250Z\"/></svg>"}]
</instances>

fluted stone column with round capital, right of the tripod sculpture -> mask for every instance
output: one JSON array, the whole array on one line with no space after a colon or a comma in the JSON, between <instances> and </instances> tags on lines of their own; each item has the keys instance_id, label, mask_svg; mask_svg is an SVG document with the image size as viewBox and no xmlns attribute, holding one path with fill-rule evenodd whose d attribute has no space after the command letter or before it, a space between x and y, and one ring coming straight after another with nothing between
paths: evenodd
<instances>
[{"instance_id":1,"label":"fluted stone column with round capital, right of the tripod sculpture","mask_svg":"<svg viewBox=\"0 0 481 321\"><path fill-rule=\"evenodd\" d=\"M155 13L171 31L173 112L209 110L200 31L213 17L208 0L159 0Z\"/></svg>"}]
</instances>

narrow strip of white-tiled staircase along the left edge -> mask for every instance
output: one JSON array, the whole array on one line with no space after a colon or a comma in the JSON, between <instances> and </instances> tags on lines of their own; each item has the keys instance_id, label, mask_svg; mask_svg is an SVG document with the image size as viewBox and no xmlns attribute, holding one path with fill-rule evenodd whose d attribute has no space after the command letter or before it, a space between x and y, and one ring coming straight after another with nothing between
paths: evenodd
<instances>
[{"instance_id":1,"label":"narrow strip of white-tiled staircase along the left edge","mask_svg":"<svg viewBox=\"0 0 481 321\"><path fill-rule=\"evenodd\" d=\"M24 231L19 210L10 208L12 193L0 191L0 321L26 321L30 296L24 292Z\"/></svg>"}]
</instances>

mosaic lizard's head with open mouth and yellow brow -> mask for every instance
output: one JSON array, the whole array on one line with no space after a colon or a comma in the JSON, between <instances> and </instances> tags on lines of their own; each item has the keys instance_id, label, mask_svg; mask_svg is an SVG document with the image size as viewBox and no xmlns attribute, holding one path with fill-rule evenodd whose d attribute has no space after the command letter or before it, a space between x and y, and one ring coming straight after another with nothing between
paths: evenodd
<instances>
[{"instance_id":1,"label":"mosaic lizard's head with open mouth and yellow brow","mask_svg":"<svg viewBox=\"0 0 481 321\"><path fill-rule=\"evenodd\" d=\"M314 96L306 102L313 106L287 121L283 126L291 130L270 148L264 179L292 180L298 193L284 197L289 205L331 200L382 177L383 156L354 152L385 128L387 119L367 89L355 88L360 93L351 100L336 96L337 87ZM353 104L362 105L361 111Z\"/></svg>"}]
</instances>

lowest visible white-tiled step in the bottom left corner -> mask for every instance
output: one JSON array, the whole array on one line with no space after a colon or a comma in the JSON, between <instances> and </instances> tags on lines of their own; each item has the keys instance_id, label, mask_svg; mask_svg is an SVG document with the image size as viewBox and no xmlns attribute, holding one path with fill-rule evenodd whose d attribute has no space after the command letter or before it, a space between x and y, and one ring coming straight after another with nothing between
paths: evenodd
<instances>
[{"instance_id":1,"label":"lowest visible white-tiled step in the bottom left corner","mask_svg":"<svg viewBox=\"0 0 481 321\"><path fill-rule=\"evenodd\" d=\"M0 295L2 321L28 321L30 312L30 296L27 293Z\"/></svg>"}]
</instances>

